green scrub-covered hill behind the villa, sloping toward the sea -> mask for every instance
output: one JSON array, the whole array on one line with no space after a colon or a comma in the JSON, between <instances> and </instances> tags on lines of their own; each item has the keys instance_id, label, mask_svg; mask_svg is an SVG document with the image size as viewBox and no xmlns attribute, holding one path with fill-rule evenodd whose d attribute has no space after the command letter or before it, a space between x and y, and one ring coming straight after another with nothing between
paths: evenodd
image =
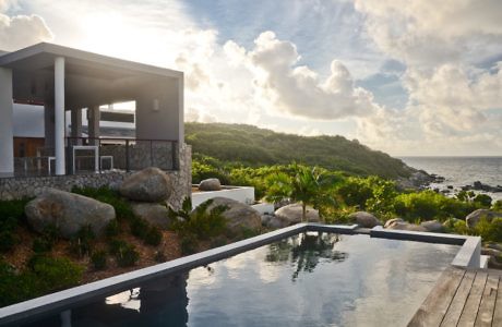
<instances>
[{"instance_id":1,"label":"green scrub-covered hill behind the villa, sloping toward the sea","mask_svg":"<svg viewBox=\"0 0 502 327\"><path fill-rule=\"evenodd\" d=\"M296 161L332 170L385 178L407 177L399 159L342 136L299 136L244 124L186 123L186 142L194 158L258 167Z\"/></svg>"}]
</instances>

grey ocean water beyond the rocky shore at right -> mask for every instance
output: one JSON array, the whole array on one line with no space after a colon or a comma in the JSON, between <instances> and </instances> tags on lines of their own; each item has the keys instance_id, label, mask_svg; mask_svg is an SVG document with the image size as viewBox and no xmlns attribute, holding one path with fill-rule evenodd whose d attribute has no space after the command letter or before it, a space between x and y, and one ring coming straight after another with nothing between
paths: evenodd
<instances>
[{"instance_id":1,"label":"grey ocean water beyond the rocky shore at right","mask_svg":"<svg viewBox=\"0 0 502 327\"><path fill-rule=\"evenodd\" d=\"M444 182L431 184L431 189L446 190L447 185L458 192L475 181L491 186L502 185L502 157L399 157L406 165L428 173L444 177ZM502 199L502 193L487 193L493 199ZM452 195L452 194L451 194Z\"/></svg>"}]
</instances>

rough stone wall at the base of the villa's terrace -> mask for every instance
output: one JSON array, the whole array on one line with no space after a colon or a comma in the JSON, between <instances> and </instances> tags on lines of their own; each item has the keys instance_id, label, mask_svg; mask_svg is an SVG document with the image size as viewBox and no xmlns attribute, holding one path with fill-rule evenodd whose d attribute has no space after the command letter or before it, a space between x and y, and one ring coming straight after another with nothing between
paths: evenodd
<instances>
[{"instance_id":1,"label":"rough stone wall at the base of the villa's terrace","mask_svg":"<svg viewBox=\"0 0 502 327\"><path fill-rule=\"evenodd\" d=\"M192 148L183 144L179 150L179 170L166 171L170 175L174 186L168 203L180 208L186 196L190 196L192 187ZM0 199L13 199L24 196L36 196L46 187L71 191L79 187L118 187L122 180L132 172L104 171L101 173L51 175L51 177L16 177L0 178Z\"/></svg>"}]
</instances>

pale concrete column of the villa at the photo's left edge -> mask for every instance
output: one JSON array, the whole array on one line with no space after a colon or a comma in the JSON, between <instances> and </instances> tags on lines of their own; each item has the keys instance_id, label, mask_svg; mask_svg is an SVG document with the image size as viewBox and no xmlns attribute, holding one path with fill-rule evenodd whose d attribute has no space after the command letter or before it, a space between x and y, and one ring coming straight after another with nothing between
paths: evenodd
<instances>
[{"instance_id":1,"label":"pale concrete column of the villa at the photo's left edge","mask_svg":"<svg viewBox=\"0 0 502 327\"><path fill-rule=\"evenodd\" d=\"M0 177L14 174L12 70L0 68Z\"/></svg>"}]
</instances>

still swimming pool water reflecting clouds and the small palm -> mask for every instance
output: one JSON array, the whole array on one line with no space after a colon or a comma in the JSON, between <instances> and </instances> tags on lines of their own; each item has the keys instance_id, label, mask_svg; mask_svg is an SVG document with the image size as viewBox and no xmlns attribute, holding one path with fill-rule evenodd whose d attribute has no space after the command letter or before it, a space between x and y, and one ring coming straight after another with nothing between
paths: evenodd
<instances>
[{"instance_id":1,"label":"still swimming pool water reflecting clouds and the small palm","mask_svg":"<svg viewBox=\"0 0 502 327\"><path fill-rule=\"evenodd\" d=\"M458 249L302 233L98 299L72 326L405 326Z\"/></svg>"}]
</instances>

